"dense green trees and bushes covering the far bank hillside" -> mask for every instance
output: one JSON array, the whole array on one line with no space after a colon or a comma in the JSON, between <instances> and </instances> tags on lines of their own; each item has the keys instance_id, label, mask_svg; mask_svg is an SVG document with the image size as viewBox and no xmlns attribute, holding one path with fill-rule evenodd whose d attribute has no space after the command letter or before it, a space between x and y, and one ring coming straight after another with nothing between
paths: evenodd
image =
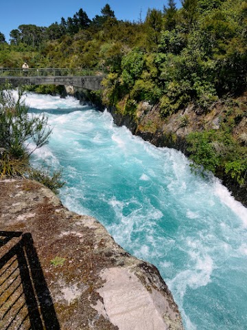
<instances>
[{"instance_id":1,"label":"dense green trees and bushes covering the far bank hillside","mask_svg":"<svg viewBox=\"0 0 247 330\"><path fill-rule=\"evenodd\" d=\"M10 32L10 44L0 33L0 66L23 61L105 74L103 91L91 99L137 126L139 106L148 102L156 122L150 117L145 132L161 131L176 118L194 168L230 182L247 204L246 1L182 0L178 8L169 0L163 11L149 9L145 19L140 13L137 22L119 21L108 4L92 20L80 8L49 27L20 25ZM210 116L217 124L204 122ZM176 140L176 132L171 135Z\"/></svg>"}]
</instances>

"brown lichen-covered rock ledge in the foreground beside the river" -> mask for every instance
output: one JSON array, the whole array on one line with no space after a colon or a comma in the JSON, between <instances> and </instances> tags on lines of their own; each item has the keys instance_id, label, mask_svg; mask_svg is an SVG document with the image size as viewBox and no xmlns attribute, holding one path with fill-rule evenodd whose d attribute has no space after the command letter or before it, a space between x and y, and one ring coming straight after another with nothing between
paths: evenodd
<instances>
[{"instance_id":1,"label":"brown lichen-covered rock ledge in the foreground beside the river","mask_svg":"<svg viewBox=\"0 0 247 330\"><path fill-rule=\"evenodd\" d=\"M9 275L23 271L21 259L16 259L20 273L12 270L17 261L10 258L10 251L25 256L44 329L183 329L178 307L156 267L128 254L92 217L69 212L37 182L0 180L0 225L0 276L7 283L0 294L10 295ZM21 236L14 236L16 232ZM31 239L22 244L25 233ZM24 254L11 250L16 246ZM21 285L26 307L18 306L20 298L12 306L14 316L8 309L16 289L0 307L1 329L10 322L13 329L18 322L22 322L18 329L38 322L30 314L24 316L25 310L31 310L27 307L31 293L26 294L23 278ZM4 304L9 305L4 308Z\"/></svg>"}]
</instances>

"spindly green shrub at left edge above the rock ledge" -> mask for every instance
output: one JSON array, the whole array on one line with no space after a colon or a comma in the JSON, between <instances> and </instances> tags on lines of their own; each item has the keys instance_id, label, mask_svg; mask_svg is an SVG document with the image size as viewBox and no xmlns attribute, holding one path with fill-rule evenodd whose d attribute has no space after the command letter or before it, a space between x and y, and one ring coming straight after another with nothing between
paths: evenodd
<instances>
[{"instance_id":1,"label":"spindly green shrub at left edge above the rock ledge","mask_svg":"<svg viewBox=\"0 0 247 330\"><path fill-rule=\"evenodd\" d=\"M28 114L19 89L17 100L12 89L0 90L0 172L1 175L23 175L28 168L30 155L48 143L51 129L45 115ZM27 148L27 142L34 144Z\"/></svg>"}]
</instances>

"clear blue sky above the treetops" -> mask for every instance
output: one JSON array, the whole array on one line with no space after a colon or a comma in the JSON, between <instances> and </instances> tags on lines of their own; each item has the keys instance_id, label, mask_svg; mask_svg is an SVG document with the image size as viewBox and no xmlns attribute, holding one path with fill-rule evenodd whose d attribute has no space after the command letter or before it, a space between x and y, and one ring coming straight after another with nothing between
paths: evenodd
<instances>
[{"instance_id":1,"label":"clear blue sky above the treetops","mask_svg":"<svg viewBox=\"0 0 247 330\"><path fill-rule=\"evenodd\" d=\"M180 0L175 2L180 5ZM92 19L106 3L117 19L138 21L140 12L144 19L148 8L162 10L167 0L1 0L0 32L8 41L10 31L21 24L49 26L56 21L60 23L61 17L72 17L80 8Z\"/></svg>"}]
</instances>

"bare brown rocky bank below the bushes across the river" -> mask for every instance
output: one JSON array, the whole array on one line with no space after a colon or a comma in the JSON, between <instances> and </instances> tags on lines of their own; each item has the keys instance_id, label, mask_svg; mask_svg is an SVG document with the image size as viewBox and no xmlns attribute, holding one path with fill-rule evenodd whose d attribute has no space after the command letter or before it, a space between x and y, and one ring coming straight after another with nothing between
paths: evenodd
<instances>
[{"instance_id":1,"label":"bare brown rocky bank below the bushes across the river","mask_svg":"<svg viewBox=\"0 0 247 330\"><path fill-rule=\"evenodd\" d=\"M220 130L221 124L227 126L228 122L231 124L234 121L236 123L232 133L233 137L237 140L246 136L247 118L246 112L244 112L247 104L246 96L247 94L244 94L235 100L235 104L237 102L244 104L242 105L242 112L238 111L238 105L236 106L237 109L234 109L234 106L228 106L224 102L215 103L209 111L201 113L196 111L193 104L191 104L186 109L169 115L167 118L161 117L158 104L152 107L148 102L138 104L134 117L124 113L121 109L113 107L108 111L113 115L115 124L127 126L134 135L141 136L143 140L149 141L155 146L176 148L189 156L187 136L191 132L217 131ZM243 109L245 110L243 111ZM244 115L242 115L243 112ZM243 141L242 144L244 143L246 142ZM220 152L224 153L224 148ZM216 170L215 175L222 180L222 184L231 191L235 199L247 207L246 185L239 185L235 178L229 174L227 175L223 170Z\"/></svg>"}]
</instances>

